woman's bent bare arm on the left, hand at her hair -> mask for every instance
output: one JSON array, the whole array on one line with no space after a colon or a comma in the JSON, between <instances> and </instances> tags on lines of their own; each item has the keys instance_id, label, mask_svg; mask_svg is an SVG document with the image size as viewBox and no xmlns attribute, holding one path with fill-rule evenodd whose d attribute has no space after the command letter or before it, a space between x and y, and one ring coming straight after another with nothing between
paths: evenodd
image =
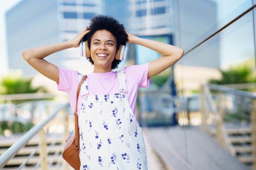
<instances>
[{"instance_id":1,"label":"woman's bent bare arm on the left, hand at her hair","mask_svg":"<svg viewBox=\"0 0 256 170\"><path fill-rule=\"evenodd\" d=\"M44 57L50 54L56 53L63 49L79 47L79 42L90 30L82 30L79 34L72 40L66 42L49 44L44 46L39 46L31 49L27 49L22 52L22 56L26 62L35 68L39 73L48 77L49 79L59 83L59 70L58 67L52 63L44 60Z\"/></svg>"}]
</instances>

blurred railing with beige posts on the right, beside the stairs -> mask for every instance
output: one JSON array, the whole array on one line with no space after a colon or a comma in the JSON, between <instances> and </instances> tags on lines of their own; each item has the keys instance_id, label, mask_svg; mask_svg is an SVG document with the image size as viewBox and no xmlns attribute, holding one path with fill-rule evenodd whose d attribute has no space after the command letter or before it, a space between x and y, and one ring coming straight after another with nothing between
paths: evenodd
<instances>
[{"instance_id":1,"label":"blurred railing with beige posts on the right, beside the stairs","mask_svg":"<svg viewBox=\"0 0 256 170\"><path fill-rule=\"evenodd\" d=\"M245 85L236 87L246 88ZM243 147L251 143L251 157L247 157L249 161L246 161L241 156L240 160L251 162L256 170L256 94L223 85L202 84L201 113L202 129L215 135L218 144L226 148L231 155L238 154L231 139L242 137L242 131L247 132L244 133L247 138L240 138L242 144L237 145ZM231 131L234 132L234 137L229 136ZM247 141L243 141L244 139Z\"/></svg>"}]
</instances>

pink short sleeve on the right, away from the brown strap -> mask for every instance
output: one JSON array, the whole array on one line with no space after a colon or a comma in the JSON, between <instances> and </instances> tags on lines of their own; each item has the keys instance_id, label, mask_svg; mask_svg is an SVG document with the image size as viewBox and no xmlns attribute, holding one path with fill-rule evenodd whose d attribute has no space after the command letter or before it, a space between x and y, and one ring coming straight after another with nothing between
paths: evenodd
<instances>
[{"instance_id":1,"label":"pink short sleeve on the right, away from the brown strap","mask_svg":"<svg viewBox=\"0 0 256 170\"><path fill-rule=\"evenodd\" d=\"M149 63L140 64L140 65L131 65L125 67L124 71L128 76L133 77L138 83L139 87L149 87L148 78L148 66Z\"/></svg>"}]
</instances>

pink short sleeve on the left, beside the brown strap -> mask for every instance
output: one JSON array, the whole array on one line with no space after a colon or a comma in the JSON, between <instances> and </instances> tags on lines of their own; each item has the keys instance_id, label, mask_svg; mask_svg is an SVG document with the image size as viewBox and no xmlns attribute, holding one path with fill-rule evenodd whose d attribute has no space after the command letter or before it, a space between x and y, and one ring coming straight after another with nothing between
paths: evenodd
<instances>
[{"instance_id":1,"label":"pink short sleeve on the left, beside the brown strap","mask_svg":"<svg viewBox=\"0 0 256 170\"><path fill-rule=\"evenodd\" d=\"M57 89L59 91L64 91L68 93L73 83L77 81L76 78L78 76L78 71L61 68L61 67L58 67L58 69L59 69L59 83L56 82Z\"/></svg>"}]
</instances>

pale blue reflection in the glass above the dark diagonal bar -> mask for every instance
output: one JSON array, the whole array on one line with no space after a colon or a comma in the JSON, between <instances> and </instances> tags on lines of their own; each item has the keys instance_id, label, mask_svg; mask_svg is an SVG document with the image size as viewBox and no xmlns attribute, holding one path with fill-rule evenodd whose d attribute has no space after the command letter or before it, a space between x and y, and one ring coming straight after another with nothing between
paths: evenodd
<instances>
[{"instance_id":1,"label":"pale blue reflection in the glass above the dark diagonal bar","mask_svg":"<svg viewBox=\"0 0 256 170\"><path fill-rule=\"evenodd\" d=\"M194 1L179 1L179 3L182 48L186 50L209 37L252 5L251 0L210 0L198 4Z\"/></svg>"}]
</instances>

